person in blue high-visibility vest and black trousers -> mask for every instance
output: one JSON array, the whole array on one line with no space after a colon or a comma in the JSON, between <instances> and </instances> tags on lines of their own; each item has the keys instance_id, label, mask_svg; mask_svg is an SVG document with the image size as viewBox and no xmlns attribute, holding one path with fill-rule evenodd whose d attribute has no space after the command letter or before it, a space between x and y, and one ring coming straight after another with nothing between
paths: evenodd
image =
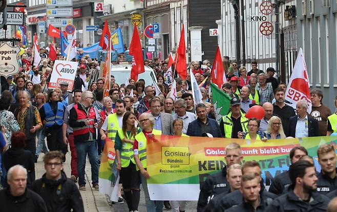
<instances>
[{"instance_id":1,"label":"person in blue high-visibility vest and black trousers","mask_svg":"<svg viewBox=\"0 0 337 212\"><path fill-rule=\"evenodd\" d=\"M41 121L46 127L48 149L50 151L62 151L64 155L68 152L68 147L63 142L62 134L65 111L66 107L59 101L59 96L55 90L48 93L48 102L39 109Z\"/></svg>"}]
</instances>

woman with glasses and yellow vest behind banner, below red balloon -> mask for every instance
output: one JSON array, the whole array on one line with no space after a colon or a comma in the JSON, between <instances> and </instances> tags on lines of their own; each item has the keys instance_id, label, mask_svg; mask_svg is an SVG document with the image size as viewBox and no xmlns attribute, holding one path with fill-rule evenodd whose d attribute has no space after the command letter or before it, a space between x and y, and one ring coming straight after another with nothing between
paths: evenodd
<instances>
[{"instance_id":1,"label":"woman with glasses and yellow vest behind banner, below red balloon","mask_svg":"<svg viewBox=\"0 0 337 212\"><path fill-rule=\"evenodd\" d=\"M248 132L238 132L238 138L240 139L251 139L251 140L262 140L267 141L264 133L259 131L260 120L256 118L251 118L248 120Z\"/></svg>"}]
</instances>

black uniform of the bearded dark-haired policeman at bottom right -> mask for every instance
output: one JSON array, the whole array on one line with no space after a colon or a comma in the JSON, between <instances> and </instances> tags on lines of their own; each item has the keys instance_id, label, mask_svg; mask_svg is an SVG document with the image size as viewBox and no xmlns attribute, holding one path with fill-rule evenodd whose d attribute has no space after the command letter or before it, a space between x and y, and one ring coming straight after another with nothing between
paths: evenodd
<instances>
[{"instance_id":1,"label":"black uniform of the bearded dark-haired policeman at bottom right","mask_svg":"<svg viewBox=\"0 0 337 212\"><path fill-rule=\"evenodd\" d=\"M311 192L310 200L303 201L298 196L296 196L292 189L290 189L286 194L276 198L272 203L266 208L265 211L272 212L285 212L285 211L326 211L330 199L324 195L317 192Z\"/></svg>"}]
</instances>

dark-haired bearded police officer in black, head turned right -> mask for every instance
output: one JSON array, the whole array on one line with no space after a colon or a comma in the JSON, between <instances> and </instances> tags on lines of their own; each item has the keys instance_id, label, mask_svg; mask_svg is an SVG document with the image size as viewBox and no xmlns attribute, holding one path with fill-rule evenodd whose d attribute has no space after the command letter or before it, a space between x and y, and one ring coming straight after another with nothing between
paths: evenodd
<instances>
[{"instance_id":1,"label":"dark-haired bearded police officer in black, head turned right","mask_svg":"<svg viewBox=\"0 0 337 212\"><path fill-rule=\"evenodd\" d=\"M290 189L272 201L265 211L326 211L330 199L315 193L318 178L314 164L300 160L290 166L289 175Z\"/></svg>"}]
</instances>

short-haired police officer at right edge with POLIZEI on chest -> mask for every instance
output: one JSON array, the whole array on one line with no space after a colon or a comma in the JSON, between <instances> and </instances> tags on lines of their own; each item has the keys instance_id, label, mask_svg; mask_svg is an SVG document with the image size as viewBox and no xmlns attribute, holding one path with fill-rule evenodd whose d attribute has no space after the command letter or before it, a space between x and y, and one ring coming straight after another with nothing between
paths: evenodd
<instances>
[{"instance_id":1,"label":"short-haired police officer at right edge with POLIZEI on chest","mask_svg":"<svg viewBox=\"0 0 337 212\"><path fill-rule=\"evenodd\" d=\"M317 156L322 168L317 176L317 192L325 195L337 189L335 149L330 144L322 145L317 150Z\"/></svg>"}]
</instances>

